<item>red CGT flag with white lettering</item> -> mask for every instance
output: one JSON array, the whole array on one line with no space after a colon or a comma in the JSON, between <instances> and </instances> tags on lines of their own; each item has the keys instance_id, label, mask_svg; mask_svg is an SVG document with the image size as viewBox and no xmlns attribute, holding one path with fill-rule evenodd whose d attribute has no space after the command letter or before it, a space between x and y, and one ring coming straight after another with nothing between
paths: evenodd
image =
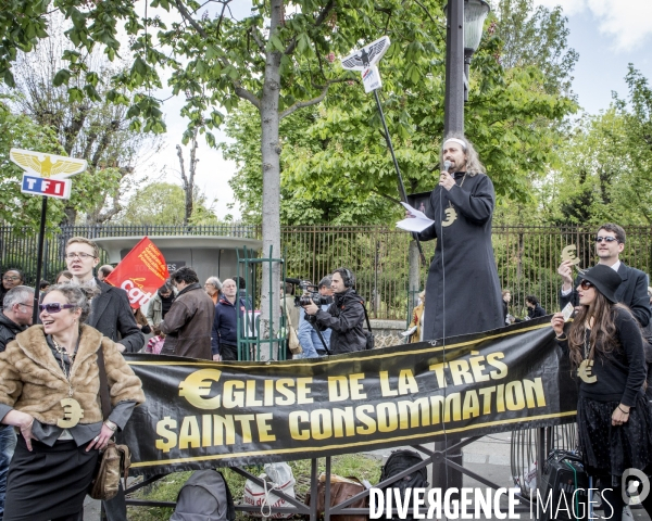
<instances>
[{"instance_id":1,"label":"red CGT flag with white lettering","mask_svg":"<svg viewBox=\"0 0 652 521\"><path fill-rule=\"evenodd\" d=\"M127 292L134 309L146 305L170 278L165 257L148 237L143 238L104 279Z\"/></svg>"}]
</instances>

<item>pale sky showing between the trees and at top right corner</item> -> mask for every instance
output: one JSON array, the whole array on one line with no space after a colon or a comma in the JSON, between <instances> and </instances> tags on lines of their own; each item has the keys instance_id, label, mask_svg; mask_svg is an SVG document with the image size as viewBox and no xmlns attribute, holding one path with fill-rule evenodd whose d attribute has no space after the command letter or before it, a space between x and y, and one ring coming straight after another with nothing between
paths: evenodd
<instances>
[{"instance_id":1,"label":"pale sky showing between the trees and at top right corner","mask_svg":"<svg viewBox=\"0 0 652 521\"><path fill-rule=\"evenodd\" d=\"M620 98L627 97L625 75L627 64L652 81L652 0L534 0L536 5L552 9L561 5L568 17L568 47L579 53L579 60L573 74L573 90L580 106L590 114L609 109L612 91ZM239 14L247 15L251 3L247 0L234 2ZM237 13L238 14L238 13ZM151 15L151 14L150 14ZM162 93L164 98L165 93ZM155 157L155 168L148 174L170 182L179 183L179 162L176 144L180 144L186 122L179 116L183 99L171 99L163 110L166 114L166 145ZM227 139L224 134L215 132L217 141ZM189 150L184 149L186 168ZM199 139L196 182L209 200L216 199L214 205L218 217L231 214L237 220L239 208L227 208L234 202L228 180L236 165L227 162L222 153L211 149L203 138Z\"/></svg>"}]
</instances>

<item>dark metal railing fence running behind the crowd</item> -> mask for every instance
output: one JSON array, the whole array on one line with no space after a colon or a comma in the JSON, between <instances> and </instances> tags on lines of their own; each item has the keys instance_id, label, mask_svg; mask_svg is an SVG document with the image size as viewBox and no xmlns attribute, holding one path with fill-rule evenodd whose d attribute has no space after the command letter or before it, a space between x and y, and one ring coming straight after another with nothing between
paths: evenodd
<instances>
[{"instance_id":1,"label":"dark metal railing fence running behind the crowd","mask_svg":"<svg viewBox=\"0 0 652 521\"><path fill-rule=\"evenodd\" d=\"M629 227L622 259L645 272L652 270L652 227ZM548 310L557 309L560 277L556 274L562 251L576 246L579 267L594 264L594 228L587 227L493 227L493 251L503 288L512 291L511 313L526 314L525 296L536 295ZM65 267L65 241L74 236L143 237L143 236L226 236L260 239L259 227L221 226L71 226L48 237L45 249L43 278L51 280ZM373 318L401 319L409 314L408 250L410 236L396 228L381 226L310 226L283 227L281 251L288 277L317 282L339 266L351 269L358 278L358 291L367 302ZM36 231L0 227L0 268L20 268L27 282L34 284L36 272ZM424 243L428 259L435 243ZM105 258L101 259L102 263ZM454 268L450 268L454 269ZM425 282L427 267L421 268ZM475 305L482 305L477 295Z\"/></svg>"}]
</instances>

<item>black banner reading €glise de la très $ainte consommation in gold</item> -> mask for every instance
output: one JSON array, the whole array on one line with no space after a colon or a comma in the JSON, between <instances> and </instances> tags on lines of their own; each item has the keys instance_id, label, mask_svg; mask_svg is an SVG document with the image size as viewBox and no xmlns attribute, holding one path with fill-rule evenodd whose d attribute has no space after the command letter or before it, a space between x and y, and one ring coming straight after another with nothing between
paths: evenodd
<instances>
[{"instance_id":1,"label":"black banner reading \u20acglise de la tr\u00e8s $ainte consommation in gold","mask_svg":"<svg viewBox=\"0 0 652 521\"><path fill-rule=\"evenodd\" d=\"M450 344L448 343L450 342ZM308 459L574 419L550 317L447 341L274 363L125 355L147 403L135 473Z\"/></svg>"}]
</instances>

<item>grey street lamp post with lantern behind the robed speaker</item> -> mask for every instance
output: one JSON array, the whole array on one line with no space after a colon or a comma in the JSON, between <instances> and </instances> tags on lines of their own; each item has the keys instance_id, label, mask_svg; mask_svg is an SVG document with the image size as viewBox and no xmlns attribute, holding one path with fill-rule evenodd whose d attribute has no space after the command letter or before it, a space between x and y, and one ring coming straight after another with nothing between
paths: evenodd
<instances>
[{"instance_id":1,"label":"grey street lamp post with lantern behind the robed speaker","mask_svg":"<svg viewBox=\"0 0 652 521\"><path fill-rule=\"evenodd\" d=\"M482 26L490 8L485 0L450 0L446 5L446 93L443 100L443 135L464 134L464 102L468 101L468 67L480 45ZM447 450L462 439L449 435L436 442L435 450ZM462 449L447 450L446 457L462 465ZM432 465L432 485L462 488L462 472L444 462Z\"/></svg>"}]
</instances>

